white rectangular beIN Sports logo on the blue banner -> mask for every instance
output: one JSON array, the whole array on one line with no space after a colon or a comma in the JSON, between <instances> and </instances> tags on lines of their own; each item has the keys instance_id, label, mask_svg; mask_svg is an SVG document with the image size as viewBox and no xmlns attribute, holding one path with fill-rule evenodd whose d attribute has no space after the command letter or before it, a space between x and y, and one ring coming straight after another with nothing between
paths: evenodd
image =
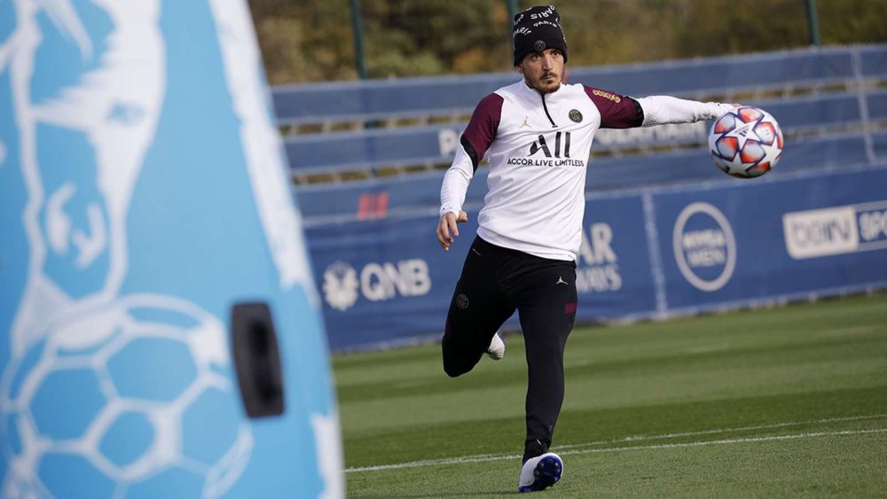
<instances>
[{"instance_id":1,"label":"white rectangular beIN Sports logo on the blue banner","mask_svg":"<svg viewBox=\"0 0 887 499\"><path fill-rule=\"evenodd\" d=\"M887 201L787 213L782 230L795 260L887 249Z\"/></svg>"}]
</instances>

